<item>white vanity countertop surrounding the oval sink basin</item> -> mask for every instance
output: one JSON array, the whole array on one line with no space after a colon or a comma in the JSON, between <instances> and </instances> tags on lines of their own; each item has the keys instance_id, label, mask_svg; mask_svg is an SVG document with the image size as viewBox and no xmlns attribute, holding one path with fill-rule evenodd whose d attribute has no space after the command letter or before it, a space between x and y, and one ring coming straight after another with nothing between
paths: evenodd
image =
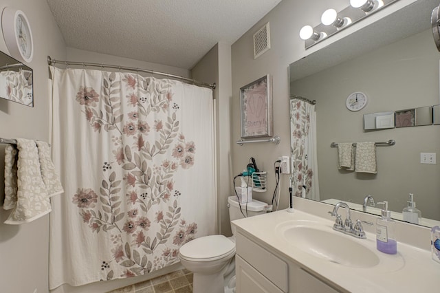
<instances>
[{"instance_id":1,"label":"white vanity countertop surrounding the oval sink basin","mask_svg":"<svg viewBox=\"0 0 440 293\"><path fill-rule=\"evenodd\" d=\"M279 232L281 225L289 221L319 222L329 229L333 221L317 217L301 210L287 213L279 210L256 217L232 221L237 232L248 237L255 237L264 246L273 248L278 254L303 265L332 283L344 288L348 292L437 292L439 290L440 263L431 258L431 252L421 250L405 243L397 243L397 254L385 254L376 249L376 238L367 232L367 239L336 232L342 237L349 237L361 243L366 248L377 254L380 263L372 268L352 268L338 263L333 263L320 257L304 252L289 243ZM326 239L322 239L323 242ZM426 239L430 241L430 239Z\"/></svg>"}]
</instances>

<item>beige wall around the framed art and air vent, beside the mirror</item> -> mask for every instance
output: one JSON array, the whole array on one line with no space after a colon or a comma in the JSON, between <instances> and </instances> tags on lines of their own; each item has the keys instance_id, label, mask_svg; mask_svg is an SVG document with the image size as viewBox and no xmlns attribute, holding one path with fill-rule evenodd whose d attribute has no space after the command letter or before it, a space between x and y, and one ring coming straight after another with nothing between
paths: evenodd
<instances>
[{"instance_id":1,"label":"beige wall around the framed art and air vent, beside the mirror","mask_svg":"<svg viewBox=\"0 0 440 293\"><path fill-rule=\"evenodd\" d=\"M283 0L232 45L232 172L238 174L243 171L251 156L256 159L259 169L268 172L268 191L254 193L256 199L265 202L272 200L275 187L274 162L279 156L290 154L288 65L331 43L344 39L366 25L413 2L415 0L401 0L393 3L391 7L377 12L364 21L356 23L335 36L331 36L331 38L305 50L304 42L298 36L300 28L306 24L318 25L320 15L330 6L339 11L347 7L349 3L344 0L332 0L331 2L326 0ZM254 59L252 36L268 21L270 22L272 48L259 58ZM256 143L239 146L234 143L240 139L239 89L265 74L271 74L273 79L274 135L281 137L281 143L278 145ZM281 208L286 207L288 203L288 180L287 175L282 176ZM232 191L232 186L230 188Z\"/></svg>"}]
</instances>

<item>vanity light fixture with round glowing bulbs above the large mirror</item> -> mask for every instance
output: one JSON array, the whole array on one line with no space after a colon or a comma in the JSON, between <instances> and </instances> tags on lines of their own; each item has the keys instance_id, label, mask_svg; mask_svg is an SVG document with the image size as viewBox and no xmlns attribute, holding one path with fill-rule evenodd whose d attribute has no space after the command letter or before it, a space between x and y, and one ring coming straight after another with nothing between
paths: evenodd
<instances>
[{"instance_id":1,"label":"vanity light fixture with round glowing bulbs above the large mirror","mask_svg":"<svg viewBox=\"0 0 440 293\"><path fill-rule=\"evenodd\" d=\"M321 16L321 23L311 27L305 25L300 30L300 38L304 40L305 48L320 43L328 39L333 34L337 34L345 28L349 28L353 23L362 21L371 14L384 9L386 6L398 0L347 0L347 7L336 11L327 9ZM437 30L432 25L432 30ZM439 21L439 39L440 39L440 21ZM440 41L439 41L440 50Z\"/></svg>"}]
</instances>

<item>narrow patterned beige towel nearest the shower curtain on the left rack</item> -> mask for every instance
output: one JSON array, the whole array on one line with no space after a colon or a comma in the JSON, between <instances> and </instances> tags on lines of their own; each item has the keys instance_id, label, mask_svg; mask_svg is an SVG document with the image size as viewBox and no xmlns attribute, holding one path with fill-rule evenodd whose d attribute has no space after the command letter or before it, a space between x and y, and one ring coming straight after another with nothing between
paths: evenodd
<instances>
[{"instance_id":1,"label":"narrow patterned beige towel nearest the shower curtain on the left rack","mask_svg":"<svg viewBox=\"0 0 440 293\"><path fill-rule=\"evenodd\" d=\"M41 175L46 188L47 196L52 197L63 193L63 186L61 186L60 177L55 171L54 163L50 158L50 148L47 142L41 140L36 141L36 146L39 151L39 160L41 167Z\"/></svg>"}]
</instances>

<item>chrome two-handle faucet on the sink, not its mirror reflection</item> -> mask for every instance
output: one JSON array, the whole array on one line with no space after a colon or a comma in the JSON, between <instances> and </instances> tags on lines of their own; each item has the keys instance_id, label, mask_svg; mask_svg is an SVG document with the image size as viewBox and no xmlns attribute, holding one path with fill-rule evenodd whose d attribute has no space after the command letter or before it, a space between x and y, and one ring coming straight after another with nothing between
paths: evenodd
<instances>
[{"instance_id":1,"label":"chrome two-handle faucet on the sink, not its mirror reflection","mask_svg":"<svg viewBox=\"0 0 440 293\"><path fill-rule=\"evenodd\" d=\"M373 197L371 197L371 199L373 199ZM341 207L345 208L346 215L344 223L342 222L341 215L338 214L338 209ZM351 221L350 207L344 202L338 202L338 204L336 204L336 206L333 208L333 211L329 212L329 214L331 214L332 217L336 217L335 224L333 224L333 230L343 232L356 238L366 238L364 228L362 227L361 223L369 224L370 226L373 225L373 223L369 221L361 221L358 219L355 226L353 227L353 222Z\"/></svg>"}]
</instances>

